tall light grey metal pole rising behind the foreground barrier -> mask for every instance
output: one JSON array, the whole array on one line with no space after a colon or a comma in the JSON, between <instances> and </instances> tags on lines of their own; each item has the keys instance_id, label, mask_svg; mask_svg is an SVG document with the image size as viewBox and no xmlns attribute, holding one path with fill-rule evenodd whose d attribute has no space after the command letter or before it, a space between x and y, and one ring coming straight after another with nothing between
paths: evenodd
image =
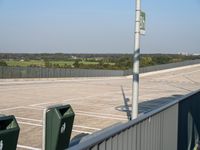
<instances>
[{"instance_id":1,"label":"tall light grey metal pole rising behind the foreground barrier","mask_svg":"<svg viewBox=\"0 0 200 150\"><path fill-rule=\"evenodd\" d=\"M139 56L140 56L140 12L141 2L136 0L135 13L135 49L133 53L133 84L132 84L132 119L138 115L139 98Z\"/></svg>"}]
</instances>

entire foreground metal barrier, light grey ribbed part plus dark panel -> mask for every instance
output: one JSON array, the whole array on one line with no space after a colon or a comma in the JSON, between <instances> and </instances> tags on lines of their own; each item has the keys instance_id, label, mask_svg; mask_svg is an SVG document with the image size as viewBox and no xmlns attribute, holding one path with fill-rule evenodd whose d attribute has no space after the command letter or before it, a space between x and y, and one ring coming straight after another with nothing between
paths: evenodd
<instances>
[{"instance_id":1,"label":"entire foreground metal barrier, light grey ribbed part plus dark panel","mask_svg":"<svg viewBox=\"0 0 200 150\"><path fill-rule=\"evenodd\" d=\"M193 150L200 139L200 91L133 121L94 133L69 150Z\"/></svg>"}]
</instances>

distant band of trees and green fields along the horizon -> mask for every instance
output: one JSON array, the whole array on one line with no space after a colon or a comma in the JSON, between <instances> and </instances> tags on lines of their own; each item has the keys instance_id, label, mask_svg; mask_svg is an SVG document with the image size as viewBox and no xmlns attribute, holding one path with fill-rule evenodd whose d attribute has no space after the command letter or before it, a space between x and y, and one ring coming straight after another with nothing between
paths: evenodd
<instances>
[{"instance_id":1,"label":"distant band of trees and green fields along the horizon","mask_svg":"<svg viewBox=\"0 0 200 150\"><path fill-rule=\"evenodd\" d=\"M140 67L200 59L200 56L178 54L141 54ZM31 66L81 69L132 69L132 54L1 54L2 66Z\"/></svg>"}]
</instances>

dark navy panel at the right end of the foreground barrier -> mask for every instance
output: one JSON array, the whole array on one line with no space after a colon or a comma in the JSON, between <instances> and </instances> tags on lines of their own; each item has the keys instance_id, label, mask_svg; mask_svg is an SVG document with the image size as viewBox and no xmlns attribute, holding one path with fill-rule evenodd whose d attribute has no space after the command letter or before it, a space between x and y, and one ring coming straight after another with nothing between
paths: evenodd
<instances>
[{"instance_id":1,"label":"dark navy panel at the right end of the foreground barrier","mask_svg":"<svg viewBox=\"0 0 200 150\"><path fill-rule=\"evenodd\" d=\"M200 146L200 92L179 103L178 150Z\"/></svg>"}]
</instances>

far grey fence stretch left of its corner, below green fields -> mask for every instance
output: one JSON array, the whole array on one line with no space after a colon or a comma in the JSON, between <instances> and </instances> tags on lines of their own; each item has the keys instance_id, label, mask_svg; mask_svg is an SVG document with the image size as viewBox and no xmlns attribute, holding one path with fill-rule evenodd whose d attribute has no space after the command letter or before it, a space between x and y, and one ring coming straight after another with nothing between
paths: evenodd
<instances>
[{"instance_id":1,"label":"far grey fence stretch left of its corner, below green fields","mask_svg":"<svg viewBox=\"0 0 200 150\"><path fill-rule=\"evenodd\" d=\"M122 70L0 67L0 78L106 77L123 75L124 71Z\"/></svg>"}]
</instances>

